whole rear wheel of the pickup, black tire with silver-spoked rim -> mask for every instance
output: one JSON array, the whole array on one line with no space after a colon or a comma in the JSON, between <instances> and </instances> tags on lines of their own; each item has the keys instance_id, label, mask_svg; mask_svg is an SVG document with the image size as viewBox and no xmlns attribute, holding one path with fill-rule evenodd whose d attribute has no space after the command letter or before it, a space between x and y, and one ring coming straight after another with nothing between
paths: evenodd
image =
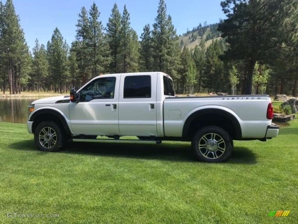
<instances>
[{"instance_id":1,"label":"whole rear wheel of the pickup, black tire with silver-spoked rim","mask_svg":"<svg viewBox=\"0 0 298 224\"><path fill-rule=\"evenodd\" d=\"M200 161L225 162L232 154L233 140L224 129L207 126L195 133L191 146Z\"/></svg>"}]
</instances>

